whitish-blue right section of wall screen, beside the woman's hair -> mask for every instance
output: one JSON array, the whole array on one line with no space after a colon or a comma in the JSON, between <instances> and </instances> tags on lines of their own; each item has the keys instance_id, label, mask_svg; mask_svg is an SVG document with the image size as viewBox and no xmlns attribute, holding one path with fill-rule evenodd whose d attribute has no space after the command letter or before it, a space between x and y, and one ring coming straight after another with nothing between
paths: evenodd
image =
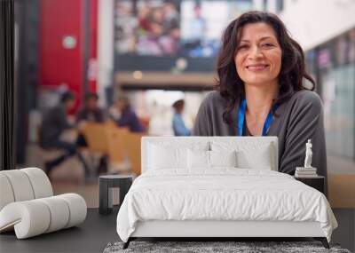
<instances>
[{"instance_id":1,"label":"whitish-blue right section of wall screen, beside the woman's hair","mask_svg":"<svg viewBox=\"0 0 355 253\"><path fill-rule=\"evenodd\" d=\"M249 1L182 1L182 53L189 57L216 56L225 27L250 9Z\"/></svg>"}]
</instances>

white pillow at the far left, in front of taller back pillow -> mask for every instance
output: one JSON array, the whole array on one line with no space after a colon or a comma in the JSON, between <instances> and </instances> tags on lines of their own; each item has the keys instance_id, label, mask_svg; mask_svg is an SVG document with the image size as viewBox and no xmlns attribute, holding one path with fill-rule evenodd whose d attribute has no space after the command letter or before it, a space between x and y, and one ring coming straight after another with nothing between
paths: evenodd
<instances>
[{"instance_id":1,"label":"white pillow at the far left, in front of taller back pillow","mask_svg":"<svg viewBox=\"0 0 355 253\"><path fill-rule=\"evenodd\" d=\"M149 170L185 169L187 167L187 148L149 146Z\"/></svg>"}]
</instances>

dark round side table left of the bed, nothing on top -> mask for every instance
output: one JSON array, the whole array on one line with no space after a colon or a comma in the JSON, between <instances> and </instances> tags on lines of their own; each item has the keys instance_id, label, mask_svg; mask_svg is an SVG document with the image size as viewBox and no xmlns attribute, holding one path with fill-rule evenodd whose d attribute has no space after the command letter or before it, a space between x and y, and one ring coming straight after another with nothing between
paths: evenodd
<instances>
[{"instance_id":1,"label":"dark round side table left of the bed, nothing on top","mask_svg":"<svg viewBox=\"0 0 355 253\"><path fill-rule=\"evenodd\" d=\"M124 196L130 190L133 176L131 175L104 175L99 177L99 213L109 214L113 210L111 188L120 188L120 206Z\"/></svg>"}]
</instances>

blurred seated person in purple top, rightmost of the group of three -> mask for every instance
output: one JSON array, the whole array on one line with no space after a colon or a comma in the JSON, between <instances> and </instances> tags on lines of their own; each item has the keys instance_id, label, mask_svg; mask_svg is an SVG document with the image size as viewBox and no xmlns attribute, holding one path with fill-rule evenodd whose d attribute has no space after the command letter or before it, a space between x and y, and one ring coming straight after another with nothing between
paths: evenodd
<instances>
[{"instance_id":1,"label":"blurred seated person in purple top, rightmost of the group of three","mask_svg":"<svg viewBox=\"0 0 355 253\"><path fill-rule=\"evenodd\" d=\"M128 127L132 132L146 131L138 116L130 107L130 99L126 95L122 94L114 101L110 114L119 127Z\"/></svg>"}]
</instances>

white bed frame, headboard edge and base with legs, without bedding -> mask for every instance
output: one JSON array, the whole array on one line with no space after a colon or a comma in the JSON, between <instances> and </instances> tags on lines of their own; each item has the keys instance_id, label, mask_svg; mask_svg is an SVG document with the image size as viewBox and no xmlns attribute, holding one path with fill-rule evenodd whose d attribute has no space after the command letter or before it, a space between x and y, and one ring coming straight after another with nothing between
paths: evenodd
<instances>
[{"instance_id":1,"label":"white bed frame, headboard edge and base with legs, without bedding","mask_svg":"<svg viewBox=\"0 0 355 253\"><path fill-rule=\"evenodd\" d=\"M233 139L238 142L271 143L273 148L274 166L278 170L278 138L277 137L143 137L142 138L142 173L146 167L148 157L148 144L162 141L174 141L178 146L186 142L212 141L221 142ZM140 221L136 230L130 235L123 249L127 249L130 241L138 238L206 238L218 241L225 238L304 238L312 237L321 241L329 249L327 238L320 228L319 222L292 222L292 221L225 221L225 220L150 220Z\"/></svg>"}]
</instances>

